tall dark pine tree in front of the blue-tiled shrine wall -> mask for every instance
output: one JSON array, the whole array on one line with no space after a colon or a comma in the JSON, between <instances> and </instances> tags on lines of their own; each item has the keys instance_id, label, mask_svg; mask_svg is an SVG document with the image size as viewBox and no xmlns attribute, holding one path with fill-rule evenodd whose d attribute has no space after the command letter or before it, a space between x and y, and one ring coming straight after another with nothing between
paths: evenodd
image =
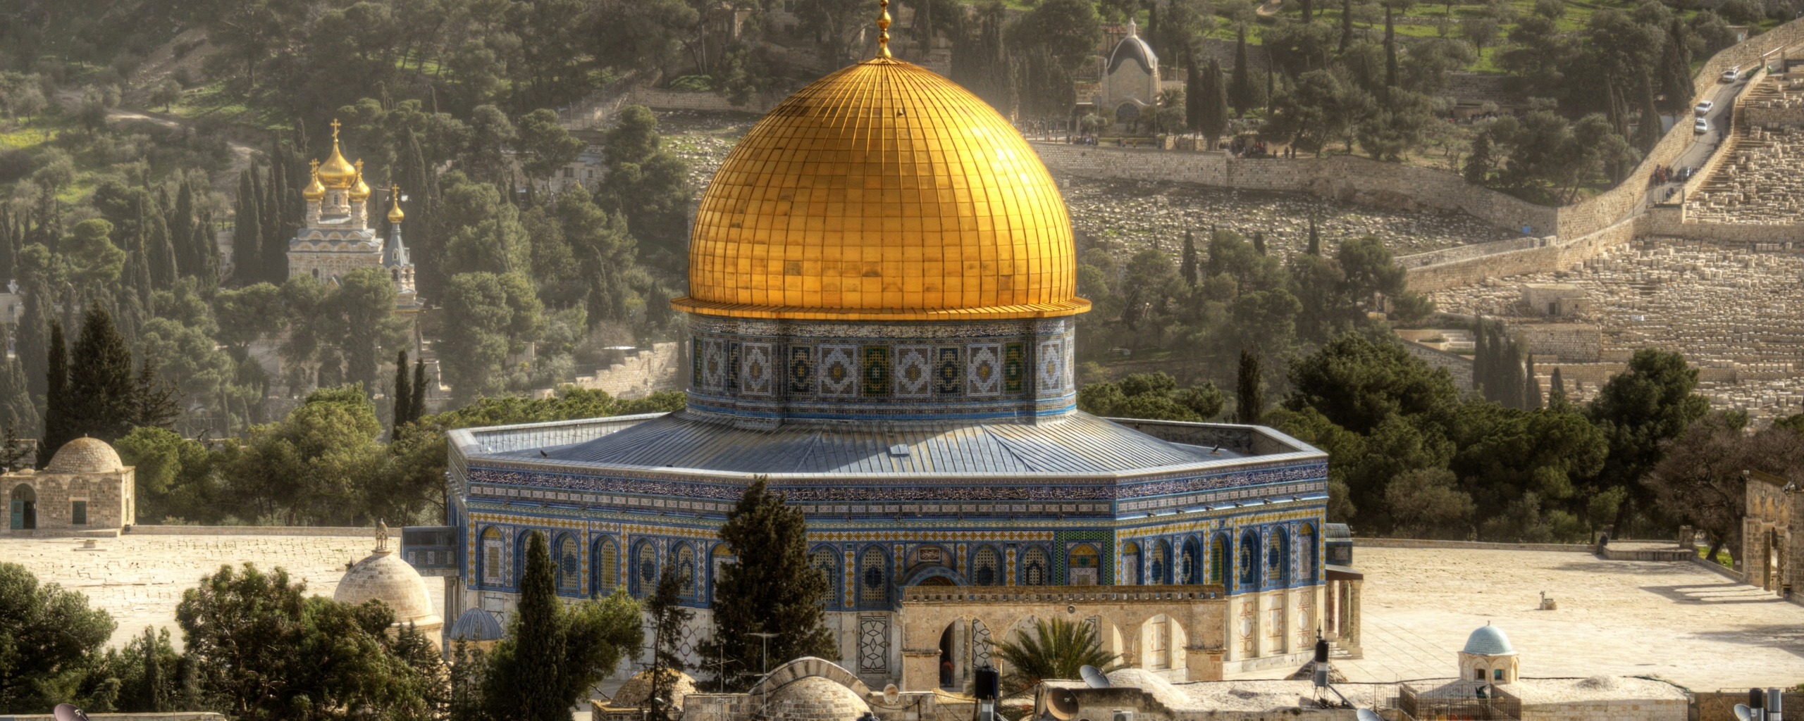
<instances>
[{"instance_id":1,"label":"tall dark pine tree in front of the blue-tiled shrine wall","mask_svg":"<svg viewBox=\"0 0 1804 721\"><path fill-rule=\"evenodd\" d=\"M714 638L704 643L702 658L738 662L725 671L736 681L731 685L759 669L761 645L749 633L778 634L770 638L770 658L839 658L821 606L832 586L808 562L806 521L767 483L756 476L720 526L736 561L714 580Z\"/></svg>"}]
</instances>

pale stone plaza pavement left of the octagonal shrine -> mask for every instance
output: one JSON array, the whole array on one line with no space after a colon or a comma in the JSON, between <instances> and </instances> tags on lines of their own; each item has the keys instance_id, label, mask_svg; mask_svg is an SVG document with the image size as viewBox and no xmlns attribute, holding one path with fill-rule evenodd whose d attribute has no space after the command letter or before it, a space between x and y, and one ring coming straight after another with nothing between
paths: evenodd
<instances>
[{"instance_id":1,"label":"pale stone plaza pavement left of the octagonal shrine","mask_svg":"<svg viewBox=\"0 0 1804 721\"><path fill-rule=\"evenodd\" d=\"M399 535L399 534L397 534ZM332 597L345 562L370 555L368 535L133 535L97 539L101 550L76 550L79 539L0 539L0 562L23 564L38 582L56 582L88 597L90 607L112 613L119 627L108 645L121 645L144 625L168 625L170 640L182 645L175 606L182 591L222 564L244 562L269 571L281 566L307 593ZM395 541L390 541L393 544ZM426 579L435 607L444 607L444 580Z\"/></svg>"}]
</instances>

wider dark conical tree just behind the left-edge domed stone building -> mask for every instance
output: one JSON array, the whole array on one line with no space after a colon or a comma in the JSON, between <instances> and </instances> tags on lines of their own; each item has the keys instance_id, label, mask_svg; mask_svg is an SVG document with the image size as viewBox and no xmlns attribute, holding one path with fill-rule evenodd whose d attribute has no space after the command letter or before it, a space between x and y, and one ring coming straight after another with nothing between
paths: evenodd
<instances>
[{"instance_id":1,"label":"wider dark conical tree just behind the left-edge domed stone building","mask_svg":"<svg viewBox=\"0 0 1804 721\"><path fill-rule=\"evenodd\" d=\"M132 348L103 303L88 303L81 337L70 348L67 413L70 431L112 443L132 431Z\"/></svg>"}]
</instances>

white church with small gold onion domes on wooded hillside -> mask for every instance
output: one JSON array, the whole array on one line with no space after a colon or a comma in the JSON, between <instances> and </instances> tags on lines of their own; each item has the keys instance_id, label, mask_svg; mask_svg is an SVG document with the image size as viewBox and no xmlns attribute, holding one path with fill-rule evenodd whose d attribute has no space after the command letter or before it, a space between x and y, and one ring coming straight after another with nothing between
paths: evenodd
<instances>
[{"instance_id":1,"label":"white church with small gold onion domes on wooded hillside","mask_svg":"<svg viewBox=\"0 0 1804 721\"><path fill-rule=\"evenodd\" d=\"M400 242L400 189L390 187L388 240L370 227L370 186L363 182L363 160L345 160L337 142L339 123L332 121L332 157L314 162L312 180L301 189L305 220L289 240L289 278L312 276L336 285L345 274L381 267L395 283L395 308L419 310L413 290L413 260Z\"/></svg>"}]
</instances>

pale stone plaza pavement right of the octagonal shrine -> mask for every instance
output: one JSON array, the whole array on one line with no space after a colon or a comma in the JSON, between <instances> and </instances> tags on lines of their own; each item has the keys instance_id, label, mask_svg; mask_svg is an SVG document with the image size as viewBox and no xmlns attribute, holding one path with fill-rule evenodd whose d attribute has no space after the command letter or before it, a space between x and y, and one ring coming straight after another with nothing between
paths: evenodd
<instances>
[{"instance_id":1,"label":"pale stone plaza pavement right of the octagonal shrine","mask_svg":"<svg viewBox=\"0 0 1804 721\"><path fill-rule=\"evenodd\" d=\"M1804 606L1698 564L1358 546L1353 568L1366 573L1366 656L1335 660L1349 681L1452 676L1485 622L1510 636L1523 678L1658 676L1692 690L1804 680ZM1541 591L1557 611L1537 609Z\"/></svg>"}]
</instances>

